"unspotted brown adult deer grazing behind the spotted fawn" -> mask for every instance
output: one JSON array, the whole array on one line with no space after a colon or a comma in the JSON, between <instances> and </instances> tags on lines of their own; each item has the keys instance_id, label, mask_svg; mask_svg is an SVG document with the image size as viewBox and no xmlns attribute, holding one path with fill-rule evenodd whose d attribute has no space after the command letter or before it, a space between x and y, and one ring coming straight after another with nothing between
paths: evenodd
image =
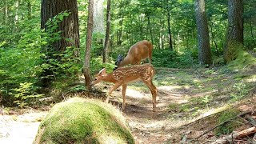
<instances>
[{"instance_id":1,"label":"unspotted brown adult deer grazing behind the spotted fawn","mask_svg":"<svg viewBox=\"0 0 256 144\"><path fill-rule=\"evenodd\" d=\"M148 58L149 63L152 61L152 43L143 40L134 44L134 46L130 46L130 50L126 55L126 58L122 58L122 55L118 55L118 59L115 62L115 65L118 67L126 66L126 65L139 65L141 61Z\"/></svg>"}]
</instances>

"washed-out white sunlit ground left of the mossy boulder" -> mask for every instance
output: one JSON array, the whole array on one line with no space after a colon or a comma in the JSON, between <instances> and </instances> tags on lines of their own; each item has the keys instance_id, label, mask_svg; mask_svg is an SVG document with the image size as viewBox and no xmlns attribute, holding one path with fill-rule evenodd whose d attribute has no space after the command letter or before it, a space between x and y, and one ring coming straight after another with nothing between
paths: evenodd
<instances>
[{"instance_id":1,"label":"washed-out white sunlit ground left of the mossy boulder","mask_svg":"<svg viewBox=\"0 0 256 144\"><path fill-rule=\"evenodd\" d=\"M30 144L34 141L40 121L47 112L0 115L0 143Z\"/></svg>"}]
</instances>

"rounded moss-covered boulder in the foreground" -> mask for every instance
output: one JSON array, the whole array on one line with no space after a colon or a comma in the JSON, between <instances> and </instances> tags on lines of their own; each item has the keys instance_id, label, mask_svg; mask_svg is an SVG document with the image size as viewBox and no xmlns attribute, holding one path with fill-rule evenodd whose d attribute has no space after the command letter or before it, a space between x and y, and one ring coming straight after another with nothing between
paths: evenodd
<instances>
[{"instance_id":1,"label":"rounded moss-covered boulder in the foreground","mask_svg":"<svg viewBox=\"0 0 256 144\"><path fill-rule=\"evenodd\" d=\"M34 143L134 143L120 111L110 104L70 98L53 106Z\"/></svg>"}]
</instances>

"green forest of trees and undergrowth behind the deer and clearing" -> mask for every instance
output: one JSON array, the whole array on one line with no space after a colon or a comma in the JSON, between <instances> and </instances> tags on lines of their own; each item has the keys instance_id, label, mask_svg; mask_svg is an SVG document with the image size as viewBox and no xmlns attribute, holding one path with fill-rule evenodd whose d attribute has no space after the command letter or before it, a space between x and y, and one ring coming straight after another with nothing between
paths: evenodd
<instances>
[{"instance_id":1,"label":"green forest of trees and undergrowth behind the deer and clearing","mask_svg":"<svg viewBox=\"0 0 256 144\"><path fill-rule=\"evenodd\" d=\"M53 89L88 91L90 81L76 83L81 71L90 78L103 66L113 70L118 54L143 39L154 44L155 67L214 68L237 58L243 68L255 64L255 0L90 2L0 2L2 105L36 105Z\"/></svg>"}]
</instances>

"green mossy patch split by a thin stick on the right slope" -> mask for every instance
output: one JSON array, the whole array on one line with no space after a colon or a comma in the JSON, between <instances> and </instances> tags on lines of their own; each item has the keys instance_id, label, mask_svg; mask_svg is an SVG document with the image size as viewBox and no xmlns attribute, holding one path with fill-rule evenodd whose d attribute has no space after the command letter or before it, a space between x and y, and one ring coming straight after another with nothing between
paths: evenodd
<instances>
[{"instance_id":1,"label":"green mossy patch split by a thin stick on the right slope","mask_svg":"<svg viewBox=\"0 0 256 144\"><path fill-rule=\"evenodd\" d=\"M222 122L226 122L230 118L236 117L239 113L240 111L236 109L230 109L223 112L223 114L221 114L217 120L218 121L217 125ZM222 134L230 134L236 127L240 126L241 123L242 123L241 118L234 118L229 122L222 124L222 126L218 126L218 128L214 131L214 133L218 136Z\"/></svg>"}]
</instances>

